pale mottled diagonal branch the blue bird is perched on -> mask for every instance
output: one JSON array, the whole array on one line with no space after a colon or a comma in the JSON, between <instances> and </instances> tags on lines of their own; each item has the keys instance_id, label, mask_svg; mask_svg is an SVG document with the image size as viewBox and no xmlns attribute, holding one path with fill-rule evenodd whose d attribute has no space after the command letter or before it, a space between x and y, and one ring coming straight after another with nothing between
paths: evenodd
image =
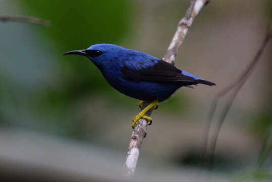
<instances>
[{"instance_id":1,"label":"pale mottled diagonal branch the blue bird is perched on","mask_svg":"<svg viewBox=\"0 0 272 182\"><path fill-rule=\"evenodd\" d=\"M192 25L195 17L202 9L204 5L208 3L207 0L192 0L189 9L185 16L180 20L177 31L169 45L166 55L162 60L174 64L178 50L187 35L189 27ZM145 103L143 109L150 103ZM150 116L152 110L150 110L147 116ZM126 162L123 166L123 174L128 178L133 178L134 171L136 169L138 157L140 154L140 148L144 137L146 136L147 121L143 118L139 119L135 125L135 129L132 133L128 153L126 155Z\"/></svg>"}]
</instances>

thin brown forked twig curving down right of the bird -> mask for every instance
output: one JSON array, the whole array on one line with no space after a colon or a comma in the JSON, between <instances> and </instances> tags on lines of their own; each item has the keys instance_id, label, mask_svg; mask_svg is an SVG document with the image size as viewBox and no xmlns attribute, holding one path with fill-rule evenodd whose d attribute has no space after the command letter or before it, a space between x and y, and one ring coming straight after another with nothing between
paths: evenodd
<instances>
[{"instance_id":1,"label":"thin brown forked twig curving down right of the bird","mask_svg":"<svg viewBox=\"0 0 272 182\"><path fill-rule=\"evenodd\" d=\"M211 107L210 107L206 131L204 133L205 135L204 135L204 143L203 143L202 154L201 154L201 159L202 159L201 165L203 165L203 159L206 157L206 149L207 149L207 141L208 141L208 133L209 133L209 129L210 129L210 124L211 124L212 118L214 116L216 106L219 102L219 99L221 99L223 96L225 96L226 94L228 94L229 92L231 92L233 90L233 94L229 97L229 99L223 109L223 112L220 116L219 121L217 122L215 132L212 137L211 154L210 154L210 156L211 156L210 157L210 169L213 168L213 160L214 160L216 142L217 142L217 138L218 138L219 132L221 130L222 124L223 124L223 122L229 112L230 107L232 106L234 99L236 98L237 94L239 93L239 91L242 88L242 86L244 85L244 83L247 81L247 79L250 76L250 74L252 73L252 71L255 69L255 67L256 67L257 63L259 62L260 57L261 57L267 43L271 39L271 37L272 37L272 16L270 18L270 23L267 26L267 33L266 33L266 36L261 44L261 47L259 48L258 52L254 56L254 58L252 59L250 64L246 67L246 69L241 73L241 75L235 81L233 81L231 84L226 86L224 89L222 89L219 93L217 93L214 96L213 101L211 103Z\"/></svg>"}]
</instances>

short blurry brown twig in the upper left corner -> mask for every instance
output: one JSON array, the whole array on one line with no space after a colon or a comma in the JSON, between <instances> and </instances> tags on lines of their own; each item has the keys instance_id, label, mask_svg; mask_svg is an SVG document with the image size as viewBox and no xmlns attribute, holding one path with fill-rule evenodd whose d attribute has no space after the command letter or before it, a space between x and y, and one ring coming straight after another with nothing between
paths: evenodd
<instances>
[{"instance_id":1,"label":"short blurry brown twig in the upper left corner","mask_svg":"<svg viewBox=\"0 0 272 182\"><path fill-rule=\"evenodd\" d=\"M23 16L4 15L4 16L0 16L0 21L2 21L2 22L10 22L10 21L25 22L25 23L43 25L43 26L50 25L50 22L48 20L43 20L43 19L35 18L35 17L23 17Z\"/></svg>"}]
</instances>

